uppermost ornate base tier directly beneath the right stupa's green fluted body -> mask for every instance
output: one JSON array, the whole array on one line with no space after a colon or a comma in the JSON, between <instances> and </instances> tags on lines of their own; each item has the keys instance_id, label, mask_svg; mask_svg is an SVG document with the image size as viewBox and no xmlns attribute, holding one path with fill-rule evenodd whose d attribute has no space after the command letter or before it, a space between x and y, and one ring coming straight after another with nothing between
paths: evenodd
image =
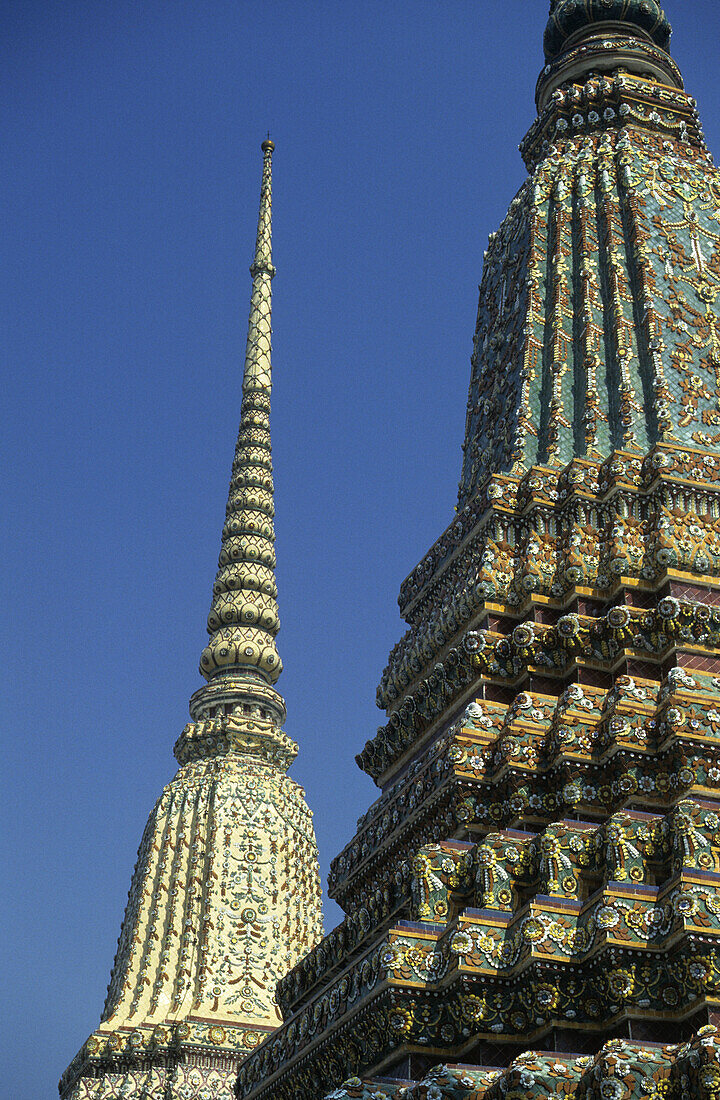
<instances>
[{"instance_id":1,"label":"uppermost ornate base tier directly beneath the right stupa's green fluted body","mask_svg":"<svg viewBox=\"0 0 720 1100\"><path fill-rule=\"evenodd\" d=\"M472 688L472 661L496 659L488 627L513 646L516 627L528 620L538 636L545 623L568 638L578 602L595 616L606 607L608 622L619 601L709 598L708 590L720 588L719 479L718 454L667 443L644 458L616 452L603 463L575 460L560 472L535 466L522 477L490 479L439 541L432 564L406 582L416 625L390 654L378 689L389 722L361 766L385 785L445 708L459 705ZM539 661L551 679L573 663ZM513 679L512 661L498 668Z\"/></svg>"}]
</instances>

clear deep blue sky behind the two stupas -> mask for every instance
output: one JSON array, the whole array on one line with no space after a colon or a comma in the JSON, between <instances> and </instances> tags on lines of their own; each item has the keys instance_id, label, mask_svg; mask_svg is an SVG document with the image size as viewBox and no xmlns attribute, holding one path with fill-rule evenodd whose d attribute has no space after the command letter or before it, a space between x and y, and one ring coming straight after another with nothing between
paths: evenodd
<instances>
[{"instance_id":1,"label":"clear deep blue sky behind the two stupas","mask_svg":"<svg viewBox=\"0 0 720 1100\"><path fill-rule=\"evenodd\" d=\"M487 234L546 0L5 0L2 1092L97 1024L199 685L276 142L278 578L323 878L400 582L452 517ZM717 0L667 0L720 153ZM326 906L326 924L337 922Z\"/></svg>"}]
</instances>

